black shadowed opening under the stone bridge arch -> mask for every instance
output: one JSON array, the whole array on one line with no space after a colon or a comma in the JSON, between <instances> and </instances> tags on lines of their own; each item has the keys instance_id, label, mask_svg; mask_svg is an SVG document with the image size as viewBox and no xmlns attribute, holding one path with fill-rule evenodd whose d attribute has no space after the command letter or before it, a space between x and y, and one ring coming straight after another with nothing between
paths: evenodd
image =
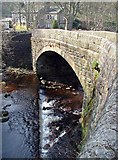
<instances>
[{"instance_id":1,"label":"black shadowed opening under the stone bridge arch","mask_svg":"<svg viewBox=\"0 0 118 160\"><path fill-rule=\"evenodd\" d=\"M57 52L45 51L37 59L36 73L38 78L73 86L83 91L83 87L69 63Z\"/></svg>"}]
</instances>

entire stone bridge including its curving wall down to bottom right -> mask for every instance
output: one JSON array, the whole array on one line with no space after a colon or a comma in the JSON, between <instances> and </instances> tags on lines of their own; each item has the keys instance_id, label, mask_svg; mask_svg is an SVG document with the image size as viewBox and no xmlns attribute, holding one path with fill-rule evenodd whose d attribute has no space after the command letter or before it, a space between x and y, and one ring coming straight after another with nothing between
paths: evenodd
<instances>
[{"instance_id":1,"label":"entire stone bridge including its curving wall down to bottom right","mask_svg":"<svg viewBox=\"0 0 118 160\"><path fill-rule=\"evenodd\" d=\"M80 158L113 158L116 152L116 34L99 31L34 30L33 68L45 51L61 55L72 67L94 103L88 136ZM97 78L93 62L99 64ZM84 108L83 108L84 110ZM85 124L86 125L86 124Z\"/></svg>"}]
</instances>

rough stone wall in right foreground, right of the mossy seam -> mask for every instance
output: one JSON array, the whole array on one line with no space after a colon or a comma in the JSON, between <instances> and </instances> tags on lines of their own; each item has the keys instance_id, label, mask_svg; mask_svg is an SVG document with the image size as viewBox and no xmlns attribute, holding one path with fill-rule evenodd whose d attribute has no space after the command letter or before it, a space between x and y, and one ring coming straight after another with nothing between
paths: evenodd
<instances>
[{"instance_id":1,"label":"rough stone wall in right foreground, right of the mossy seam","mask_svg":"<svg viewBox=\"0 0 118 160\"><path fill-rule=\"evenodd\" d=\"M116 158L117 74L116 44L103 39L99 56L100 74L90 117L85 124L88 138L79 158ZM116 158L117 159L117 158Z\"/></svg>"}]
</instances>

